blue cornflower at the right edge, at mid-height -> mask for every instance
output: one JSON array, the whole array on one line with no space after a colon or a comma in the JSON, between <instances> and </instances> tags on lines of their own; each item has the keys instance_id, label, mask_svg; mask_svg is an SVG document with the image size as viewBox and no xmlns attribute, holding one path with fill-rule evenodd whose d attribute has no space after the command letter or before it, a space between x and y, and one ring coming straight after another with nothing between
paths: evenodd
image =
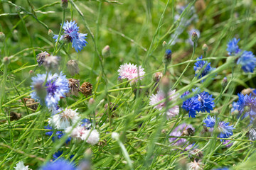
<instances>
[{"instance_id":1,"label":"blue cornflower at the right edge, at mid-height","mask_svg":"<svg viewBox=\"0 0 256 170\"><path fill-rule=\"evenodd\" d=\"M231 111L238 111L238 117L242 116L242 118L245 118L250 116L252 123L252 120L256 118L256 97L252 94L238 94L238 101L233 102L233 108ZM244 115L242 115L243 113Z\"/></svg>"}]
</instances>

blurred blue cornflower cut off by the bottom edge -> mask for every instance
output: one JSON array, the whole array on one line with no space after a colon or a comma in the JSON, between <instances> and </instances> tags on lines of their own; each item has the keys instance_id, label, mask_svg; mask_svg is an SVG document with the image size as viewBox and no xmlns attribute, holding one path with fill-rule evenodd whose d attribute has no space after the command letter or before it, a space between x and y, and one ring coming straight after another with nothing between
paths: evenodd
<instances>
[{"instance_id":1,"label":"blurred blue cornflower cut off by the bottom edge","mask_svg":"<svg viewBox=\"0 0 256 170\"><path fill-rule=\"evenodd\" d=\"M77 170L74 164L64 160L58 159L55 162L48 162L45 166L41 167L41 170Z\"/></svg>"}]
</instances>

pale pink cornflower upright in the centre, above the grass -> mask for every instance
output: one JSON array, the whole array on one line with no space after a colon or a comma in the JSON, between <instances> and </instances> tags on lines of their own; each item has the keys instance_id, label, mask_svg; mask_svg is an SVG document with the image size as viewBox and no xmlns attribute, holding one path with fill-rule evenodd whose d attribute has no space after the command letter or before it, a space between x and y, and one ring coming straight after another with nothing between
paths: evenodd
<instances>
[{"instance_id":1,"label":"pale pink cornflower upright in the centre, above the grass","mask_svg":"<svg viewBox=\"0 0 256 170\"><path fill-rule=\"evenodd\" d=\"M117 72L119 72L119 76L121 79L128 79L128 80L132 80L135 79L135 81L138 81L138 77L140 80L143 79L143 76L145 74L144 69L142 68L142 66L139 66L139 68L137 67L137 65L135 64L122 64L119 69L117 70Z\"/></svg>"}]
</instances>

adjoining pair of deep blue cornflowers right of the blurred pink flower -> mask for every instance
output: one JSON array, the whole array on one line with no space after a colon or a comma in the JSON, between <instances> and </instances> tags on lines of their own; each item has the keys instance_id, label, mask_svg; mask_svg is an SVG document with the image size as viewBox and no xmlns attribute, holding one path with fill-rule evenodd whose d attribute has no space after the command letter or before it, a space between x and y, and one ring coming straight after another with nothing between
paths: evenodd
<instances>
[{"instance_id":1,"label":"adjoining pair of deep blue cornflowers right of the blurred pink flower","mask_svg":"<svg viewBox=\"0 0 256 170\"><path fill-rule=\"evenodd\" d=\"M185 111L188 111L188 115L191 118L196 118L196 113L198 112L208 112L213 111L214 98L213 95L208 94L208 92L203 91L200 93L199 89L193 89L193 92L196 93L195 96L187 98L190 94L189 91L186 91L181 98L184 100L181 108Z\"/></svg>"}]
</instances>

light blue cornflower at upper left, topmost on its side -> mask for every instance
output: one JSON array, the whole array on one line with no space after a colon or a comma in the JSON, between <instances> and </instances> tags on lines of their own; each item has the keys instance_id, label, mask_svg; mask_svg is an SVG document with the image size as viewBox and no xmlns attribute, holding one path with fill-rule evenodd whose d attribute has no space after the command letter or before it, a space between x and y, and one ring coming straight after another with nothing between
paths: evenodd
<instances>
[{"instance_id":1,"label":"light blue cornflower at upper left, topmost on its side","mask_svg":"<svg viewBox=\"0 0 256 170\"><path fill-rule=\"evenodd\" d=\"M63 38L67 38L72 42L72 47L75 48L75 51L78 52L83 49L83 47L86 46L88 43L85 38L87 38L87 34L78 33L79 27L77 26L77 23L75 21L66 22L63 24L63 30L65 35L61 35L60 40L63 40ZM53 35L53 38L58 40L58 35Z\"/></svg>"}]
</instances>

